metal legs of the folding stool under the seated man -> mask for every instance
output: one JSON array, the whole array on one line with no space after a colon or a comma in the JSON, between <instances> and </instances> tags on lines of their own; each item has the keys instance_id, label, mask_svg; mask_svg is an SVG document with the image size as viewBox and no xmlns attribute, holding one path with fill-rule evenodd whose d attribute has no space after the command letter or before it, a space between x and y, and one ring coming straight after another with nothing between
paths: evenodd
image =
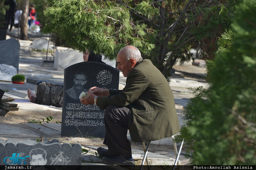
<instances>
[{"instance_id":1,"label":"metal legs of the folding stool under the seated man","mask_svg":"<svg viewBox=\"0 0 256 170\"><path fill-rule=\"evenodd\" d=\"M178 135L180 135L180 133L176 133L176 134L171 136L172 141L173 141L173 146L174 146L174 152L175 152L175 156L176 156L176 159L175 159L175 162L174 162L174 165L173 165L172 169L175 169L176 165L180 165L179 157L180 157L180 152L181 152L181 149L182 149L182 145L183 145L184 139L181 141L180 149L179 149L179 152L177 153L177 145L176 145L175 137L178 136ZM145 163L145 160L146 160L146 163L148 165L148 170L150 169L149 164L148 164L148 157L147 157L147 155L148 155L148 148L149 148L150 143L151 143L151 141L148 142L147 148L145 148L145 142L142 142L142 146L143 146L143 150L144 150L144 157L143 157L143 160L142 160L142 163L141 163L141 166L140 166L140 170L142 170L143 165Z\"/></svg>"}]
</instances>

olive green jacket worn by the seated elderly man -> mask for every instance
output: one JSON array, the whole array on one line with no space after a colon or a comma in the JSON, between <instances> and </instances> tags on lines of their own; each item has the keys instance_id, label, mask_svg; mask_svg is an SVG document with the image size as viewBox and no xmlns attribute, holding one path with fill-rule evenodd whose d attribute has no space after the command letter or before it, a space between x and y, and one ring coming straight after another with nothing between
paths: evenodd
<instances>
[{"instance_id":1,"label":"olive green jacket worn by the seated elderly man","mask_svg":"<svg viewBox=\"0 0 256 170\"><path fill-rule=\"evenodd\" d=\"M150 60L140 60L129 72L123 90L109 90L98 97L100 109L108 105L128 106L129 131L134 142L170 137L180 126L171 87Z\"/></svg>"}]
</instances>

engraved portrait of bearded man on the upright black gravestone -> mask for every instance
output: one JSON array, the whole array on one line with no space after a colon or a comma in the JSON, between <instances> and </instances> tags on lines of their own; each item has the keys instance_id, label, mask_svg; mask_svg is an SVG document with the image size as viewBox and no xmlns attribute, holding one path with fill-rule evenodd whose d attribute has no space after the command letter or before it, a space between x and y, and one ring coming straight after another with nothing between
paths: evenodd
<instances>
[{"instance_id":1,"label":"engraved portrait of bearded man on the upright black gravestone","mask_svg":"<svg viewBox=\"0 0 256 170\"><path fill-rule=\"evenodd\" d=\"M87 89L84 88L84 85L87 82L87 76L84 71L77 71L74 75L74 85L66 90L66 93L71 99L80 100L79 95L81 92L88 92Z\"/></svg>"}]
</instances>

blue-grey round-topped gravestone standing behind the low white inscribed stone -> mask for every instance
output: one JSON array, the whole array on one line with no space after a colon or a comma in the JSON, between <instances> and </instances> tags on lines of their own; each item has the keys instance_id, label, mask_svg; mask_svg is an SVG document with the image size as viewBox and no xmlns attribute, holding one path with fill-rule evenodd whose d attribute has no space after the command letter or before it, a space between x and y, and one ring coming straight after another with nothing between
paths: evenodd
<instances>
[{"instance_id":1,"label":"blue-grey round-topped gravestone standing behind the low white inscribed stone","mask_svg":"<svg viewBox=\"0 0 256 170\"><path fill-rule=\"evenodd\" d=\"M14 38L0 41L0 64L12 65L19 73L20 43Z\"/></svg>"}]
</instances>

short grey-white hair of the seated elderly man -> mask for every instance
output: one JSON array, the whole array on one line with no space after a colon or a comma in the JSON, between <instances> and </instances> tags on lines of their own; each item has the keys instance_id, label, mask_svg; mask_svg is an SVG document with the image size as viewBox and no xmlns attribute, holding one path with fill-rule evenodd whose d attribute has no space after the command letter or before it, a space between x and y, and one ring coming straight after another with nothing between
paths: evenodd
<instances>
[{"instance_id":1,"label":"short grey-white hair of the seated elderly man","mask_svg":"<svg viewBox=\"0 0 256 170\"><path fill-rule=\"evenodd\" d=\"M136 62L142 59L140 50L134 46L125 46L124 48L120 49L118 54L120 52L125 54L126 62L128 62L130 59L134 59Z\"/></svg>"}]
</instances>

